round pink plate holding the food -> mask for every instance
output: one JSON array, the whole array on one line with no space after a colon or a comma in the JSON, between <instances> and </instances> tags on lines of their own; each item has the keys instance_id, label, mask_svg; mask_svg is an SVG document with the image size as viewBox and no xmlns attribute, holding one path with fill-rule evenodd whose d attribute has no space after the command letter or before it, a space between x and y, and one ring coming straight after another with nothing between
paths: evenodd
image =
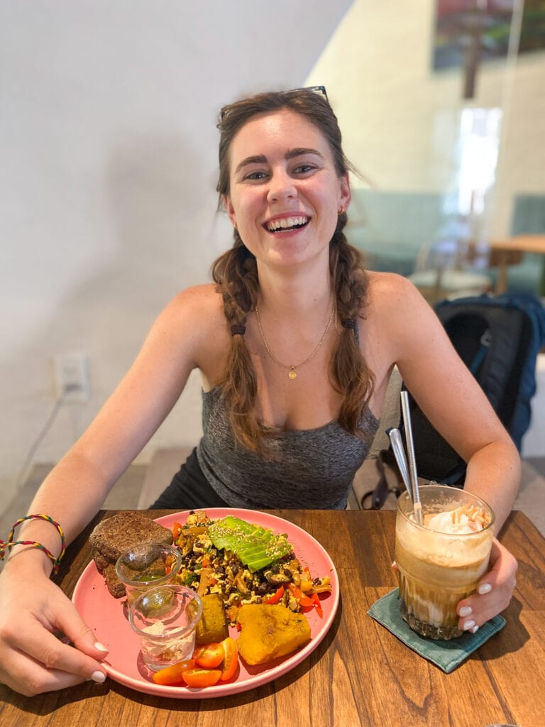
<instances>
[{"instance_id":1,"label":"round pink plate holding the food","mask_svg":"<svg viewBox=\"0 0 545 727\"><path fill-rule=\"evenodd\" d=\"M315 650L331 627L339 606L339 579L333 561L317 540L293 523L288 523L288 521L268 513L209 507L206 509L206 514L212 519L235 515L251 523L270 528L276 533L285 533L291 545L294 546L296 557L303 566L309 566L313 577L329 576L331 578L331 593L320 598L323 618L320 619L315 610L307 612L311 633L309 643L293 654L275 659L274 662L264 666L249 667L240 659L239 671L235 678L204 689L156 684L152 681L151 672L142 660L138 637L126 618L124 599L116 600L108 593L104 579L92 561L78 579L72 601L84 621L94 630L97 640L108 648L109 653L104 665L108 676L113 680L146 694L177 697L178 699L203 699L237 694L273 681L296 667ZM189 515L189 511L165 515L163 518L158 518L157 522L171 528L175 522L185 523L187 515ZM230 635L236 639L237 630L230 627Z\"/></svg>"}]
</instances>

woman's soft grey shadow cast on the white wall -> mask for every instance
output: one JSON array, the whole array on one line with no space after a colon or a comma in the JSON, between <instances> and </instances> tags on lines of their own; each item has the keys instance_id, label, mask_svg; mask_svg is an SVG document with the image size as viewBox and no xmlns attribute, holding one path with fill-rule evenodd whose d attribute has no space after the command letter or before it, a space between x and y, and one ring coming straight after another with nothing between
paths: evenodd
<instances>
[{"instance_id":1,"label":"woman's soft grey shadow cast on the white wall","mask_svg":"<svg viewBox=\"0 0 545 727\"><path fill-rule=\"evenodd\" d=\"M12 434L6 433L3 457L12 459L9 470L15 474L55 396L49 359L86 353L92 396L88 403L62 407L39 461L57 461L81 434L171 297L209 280L217 256L214 236L224 236L214 185L195 172L209 168L179 137L132 140L113 151L104 189L116 246L89 276L73 281L39 336L22 342L17 355L1 363L14 425ZM228 224L224 237L227 248Z\"/></svg>"}]
</instances>

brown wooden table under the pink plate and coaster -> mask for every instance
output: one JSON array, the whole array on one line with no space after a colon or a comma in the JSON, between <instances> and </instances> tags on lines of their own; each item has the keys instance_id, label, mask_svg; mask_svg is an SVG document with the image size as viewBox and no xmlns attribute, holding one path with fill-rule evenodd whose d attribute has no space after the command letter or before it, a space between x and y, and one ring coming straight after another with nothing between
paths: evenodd
<instances>
[{"instance_id":1,"label":"brown wooden table under the pink plate and coaster","mask_svg":"<svg viewBox=\"0 0 545 727\"><path fill-rule=\"evenodd\" d=\"M330 632L293 671L254 691L222 699L165 699L113 680L28 699L0 686L2 727L520 727L545 724L545 539L520 512L501 541L519 561L507 624L446 675L366 615L395 587L393 511L278 510L333 558L341 603ZM150 513L165 515L165 511ZM71 594L91 554L70 546L58 576Z\"/></svg>"}]
</instances>

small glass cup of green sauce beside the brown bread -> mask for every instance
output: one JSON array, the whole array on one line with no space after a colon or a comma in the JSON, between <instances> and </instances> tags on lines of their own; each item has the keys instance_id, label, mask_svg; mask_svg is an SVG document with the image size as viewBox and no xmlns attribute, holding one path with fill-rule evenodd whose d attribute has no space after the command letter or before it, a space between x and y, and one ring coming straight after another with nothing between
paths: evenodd
<instances>
[{"instance_id":1,"label":"small glass cup of green sauce beside the brown bread","mask_svg":"<svg viewBox=\"0 0 545 727\"><path fill-rule=\"evenodd\" d=\"M173 545L142 543L119 556L116 574L130 605L150 588L171 583L181 566L182 554Z\"/></svg>"}]
</instances>

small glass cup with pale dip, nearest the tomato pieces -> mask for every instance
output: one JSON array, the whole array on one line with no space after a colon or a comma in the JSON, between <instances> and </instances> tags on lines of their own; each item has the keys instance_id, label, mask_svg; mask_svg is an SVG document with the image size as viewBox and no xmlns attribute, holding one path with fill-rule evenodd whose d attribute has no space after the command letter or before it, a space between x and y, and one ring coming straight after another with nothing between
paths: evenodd
<instances>
[{"instance_id":1,"label":"small glass cup with pale dip, nearest the tomato pieces","mask_svg":"<svg viewBox=\"0 0 545 727\"><path fill-rule=\"evenodd\" d=\"M170 583L142 593L129 609L129 622L140 636L146 666L158 671L190 659L202 613L201 598L185 586Z\"/></svg>"}]
</instances>

